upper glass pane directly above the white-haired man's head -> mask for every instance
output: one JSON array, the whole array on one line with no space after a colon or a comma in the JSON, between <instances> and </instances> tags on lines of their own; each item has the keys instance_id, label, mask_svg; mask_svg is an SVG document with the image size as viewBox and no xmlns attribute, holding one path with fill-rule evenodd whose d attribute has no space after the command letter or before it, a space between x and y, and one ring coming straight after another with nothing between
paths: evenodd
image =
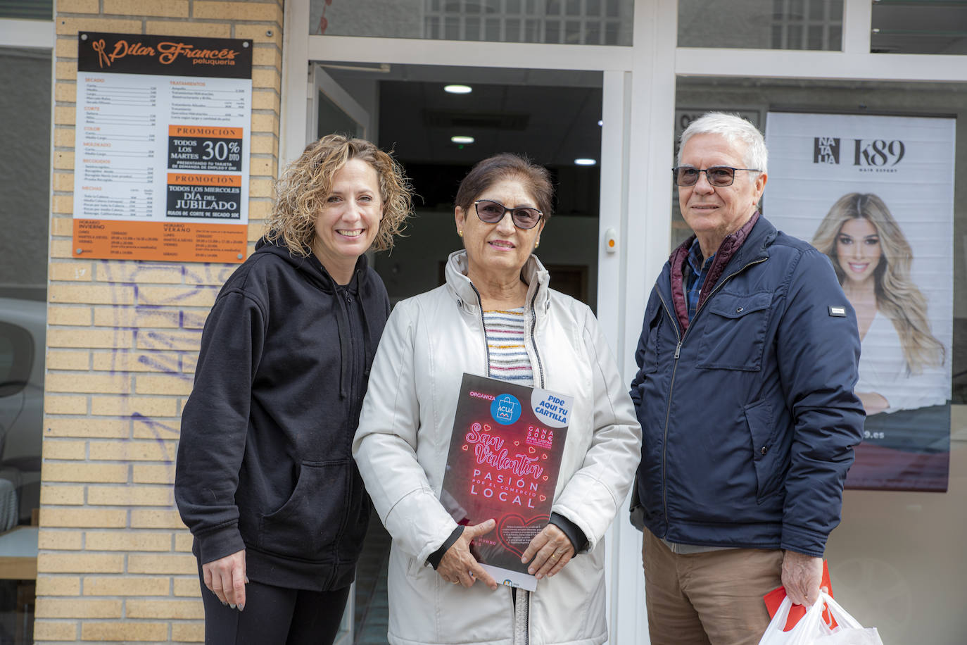
<instances>
[{"instance_id":1,"label":"upper glass pane directly above the white-haired man's head","mask_svg":"<svg viewBox=\"0 0 967 645\"><path fill-rule=\"evenodd\" d=\"M842 23L842 0L680 0L678 45L838 51Z\"/></svg>"}]
</instances>

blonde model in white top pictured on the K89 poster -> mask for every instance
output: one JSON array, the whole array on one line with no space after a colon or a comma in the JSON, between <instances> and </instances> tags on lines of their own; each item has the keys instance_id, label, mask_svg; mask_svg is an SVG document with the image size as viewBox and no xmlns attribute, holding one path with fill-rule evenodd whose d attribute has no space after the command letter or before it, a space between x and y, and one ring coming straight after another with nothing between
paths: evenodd
<instances>
[{"instance_id":1,"label":"blonde model in white top pictured on the K89 poster","mask_svg":"<svg viewBox=\"0 0 967 645\"><path fill-rule=\"evenodd\" d=\"M856 309L862 355L856 394L867 415L946 402L944 345L926 298L910 279L913 253L887 205L872 193L840 197L812 245L826 253Z\"/></svg>"}]
</instances>

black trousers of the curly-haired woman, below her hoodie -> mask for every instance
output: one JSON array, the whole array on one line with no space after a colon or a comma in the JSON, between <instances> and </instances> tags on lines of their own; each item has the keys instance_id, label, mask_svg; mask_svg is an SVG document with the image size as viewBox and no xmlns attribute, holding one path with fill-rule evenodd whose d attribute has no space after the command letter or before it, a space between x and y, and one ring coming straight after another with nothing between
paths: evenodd
<instances>
[{"instance_id":1,"label":"black trousers of the curly-haired woman, below her hoodie","mask_svg":"<svg viewBox=\"0 0 967 645\"><path fill-rule=\"evenodd\" d=\"M199 570L199 578L201 572ZM201 580L206 645L332 645L351 587L336 591L245 586L245 611L224 606Z\"/></svg>"}]
</instances>

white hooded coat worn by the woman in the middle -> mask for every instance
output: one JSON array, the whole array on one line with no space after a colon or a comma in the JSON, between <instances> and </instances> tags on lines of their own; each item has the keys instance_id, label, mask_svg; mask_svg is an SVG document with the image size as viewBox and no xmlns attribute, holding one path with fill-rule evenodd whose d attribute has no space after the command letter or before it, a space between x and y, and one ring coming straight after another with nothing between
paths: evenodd
<instances>
[{"instance_id":1,"label":"white hooded coat worn by the woman in the middle","mask_svg":"<svg viewBox=\"0 0 967 645\"><path fill-rule=\"evenodd\" d=\"M426 558L456 528L440 504L454 405L463 372L486 375L480 299L465 251L447 283L400 302L369 375L353 454L393 547L389 565L394 645L511 645L511 589L447 583ZM607 637L604 543L640 459L641 428L628 388L590 308L547 287L534 255L525 345L535 385L574 396L553 511L577 524L588 550L531 594L530 643L590 645Z\"/></svg>"}]
</instances>

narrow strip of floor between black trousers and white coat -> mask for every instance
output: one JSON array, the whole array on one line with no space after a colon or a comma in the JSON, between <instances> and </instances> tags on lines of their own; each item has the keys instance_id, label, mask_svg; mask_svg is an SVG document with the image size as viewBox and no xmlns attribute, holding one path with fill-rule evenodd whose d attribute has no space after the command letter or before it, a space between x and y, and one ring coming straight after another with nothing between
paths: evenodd
<instances>
[{"instance_id":1,"label":"narrow strip of floor between black trousers and white coat","mask_svg":"<svg viewBox=\"0 0 967 645\"><path fill-rule=\"evenodd\" d=\"M356 569L355 645L386 645L386 631L390 625L386 593L390 542L390 534L376 513L372 513L363 554Z\"/></svg>"}]
</instances>

